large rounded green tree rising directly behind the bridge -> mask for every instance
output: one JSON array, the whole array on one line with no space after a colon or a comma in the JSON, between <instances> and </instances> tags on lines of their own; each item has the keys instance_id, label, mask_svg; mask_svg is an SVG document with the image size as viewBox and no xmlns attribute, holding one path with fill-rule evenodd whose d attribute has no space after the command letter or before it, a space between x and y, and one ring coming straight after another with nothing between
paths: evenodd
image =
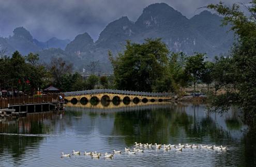
<instances>
[{"instance_id":1,"label":"large rounded green tree rising directly behind the bridge","mask_svg":"<svg viewBox=\"0 0 256 167\"><path fill-rule=\"evenodd\" d=\"M124 54L114 59L109 52L115 76L115 87L121 90L148 91L168 73L169 50L161 39L146 39L144 43L127 41ZM168 91L168 90L166 90Z\"/></svg>"}]
</instances>

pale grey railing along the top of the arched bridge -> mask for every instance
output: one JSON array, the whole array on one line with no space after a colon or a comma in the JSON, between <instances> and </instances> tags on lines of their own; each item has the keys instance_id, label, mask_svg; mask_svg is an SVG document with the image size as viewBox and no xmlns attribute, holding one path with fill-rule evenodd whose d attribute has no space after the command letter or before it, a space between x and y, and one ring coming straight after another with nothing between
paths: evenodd
<instances>
[{"instance_id":1,"label":"pale grey railing along the top of the arched bridge","mask_svg":"<svg viewBox=\"0 0 256 167\"><path fill-rule=\"evenodd\" d=\"M138 92L138 91L126 91L126 90L113 90L113 89L94 89L76 92L66 92L65 96L76 96L85 94L99 94L99 93L113 93L113 94L126 94L126 95L139 95L139 96L160 96L170 97L174 96L174 93L153 93L153 92Z\"/></svg>"}]
</instances>

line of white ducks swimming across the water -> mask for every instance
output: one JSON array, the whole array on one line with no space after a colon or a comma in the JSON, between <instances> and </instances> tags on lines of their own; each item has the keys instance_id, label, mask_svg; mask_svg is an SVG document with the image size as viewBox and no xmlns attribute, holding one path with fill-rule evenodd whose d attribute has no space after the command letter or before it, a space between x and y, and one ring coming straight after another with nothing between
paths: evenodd
<instances>
[{"instance_id":1,"label":"line of white ducks swimming across the water","mask_svg":"<svg viewBox=\"0 0 256 167\"><path fill-rule=\"evenodd\" d=\"M165 145L165 144L157 144L155 143L154 145L153 144L142 144L142 143L137 143L137 142L134 142L134 147L133 149L130 149L130 148L127 148L125 147L124 149L124 152L127 153L127 154L137 154L137 153L144 153L144 149L147 149L147 148L156 148L156 149L163 149L164 151L168 151L170 149L175 149L176 151L182 151L182 149L184 148L205 148L205 149L217 149L217 150L226 150L227 149L227 146L223 147L222 145L221 146L215 146L215 145L195 145L195 144L178 144L178 145L171 145L171 144L168 144L168 145ZM104 154L104 158L112 158L114 156L114 154L121 154L123 151L116 151L116 150L113 150L113 154L109 154L109 153L105 153ZM64 154L62 153L62 156L61 158L64 158L64 157L70 157L71 155L81 155L81 152L76 152L73 150L72 154ZM92 156L92 158L100 158L101 157L101 153L97 153L97 152L84 152L84 155L87 155L87 156Z\"/></svg>"}]
</instances>

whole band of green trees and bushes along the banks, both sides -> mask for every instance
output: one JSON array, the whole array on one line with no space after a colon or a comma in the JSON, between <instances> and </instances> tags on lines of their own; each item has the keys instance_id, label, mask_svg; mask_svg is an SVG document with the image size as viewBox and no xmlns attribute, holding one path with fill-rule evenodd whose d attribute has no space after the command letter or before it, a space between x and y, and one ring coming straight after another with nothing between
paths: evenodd
<instances>
[{"instance_id":1,"label":"whole band of green trees and bushes along the banks, both sides","mask_svg":"<svg viewBox=\"0 0 256 167\"><path fill-rule=\"evenodd\" d=\"M33 95L39 89L54 85L63 92L89 89L119 89L144 92L175 92L178 100L202 101L205 97L187 98L185 88L198 92L199 84L206 85L204 93L215 112L228 111L239 105L245 122L256 120L256 0L249 6L220 2L208 9L223 16L223 26L231 25L236 42L229 54L208 61L204 53L186 55L169 51L160 38L145 39L143 43L127 41L125 51L109 60L113 76L97 76L98 62L89 66L91 76L73 73L73 65L62 58L50 64L40 64L39 55L22 56L18 51L0 58L1 90ZM249 11L245 14L241 6ZM187 98L187 99L186 99Z\"/></svg>"}]
</instances>

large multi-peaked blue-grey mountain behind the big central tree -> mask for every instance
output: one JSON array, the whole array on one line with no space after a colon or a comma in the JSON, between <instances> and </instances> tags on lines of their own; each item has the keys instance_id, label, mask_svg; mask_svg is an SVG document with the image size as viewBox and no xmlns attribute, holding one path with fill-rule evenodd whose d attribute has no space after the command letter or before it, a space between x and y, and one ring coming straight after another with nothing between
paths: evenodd
<instances>
[{"instance_id":1,"label":"large multi-peaked blue-grey mountain behind the big central tree","mask_svg":"<svg viewBox=\"0 0 256 167\"><path fill-rule=\"evenodd\" d=\"M86 34L83 48L77 49L82 45L75 39L71 43L78 44L73 47L68 44L65 51L78 54L82 60L100 60L101 70L109 71L108 50L114 54L124 51L126 40L142 43L146 38L162 38L171 52L206 53L213 59L215 55L228 53L233 44L233 32L228 32L229 26L220 26L221 19L209 11L187 19L167 4L152 4L143 10L136 22L123 16L109 23L95 43L87 40L91 37Z\"/></svg>"}]
</instances>

